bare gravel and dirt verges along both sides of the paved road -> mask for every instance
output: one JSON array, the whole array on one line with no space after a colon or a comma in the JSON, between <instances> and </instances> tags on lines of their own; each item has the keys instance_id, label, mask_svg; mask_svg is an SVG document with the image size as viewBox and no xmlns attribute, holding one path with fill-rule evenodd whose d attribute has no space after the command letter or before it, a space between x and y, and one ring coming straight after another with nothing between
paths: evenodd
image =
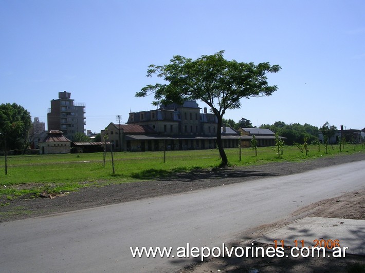
<instances>
[{"instance_id":1,"label":"bare gravel and dirt verges along both sides of the paved road","mask_svg":"<svg viewBox=\"0 0 365 273\"><path fill-rule=\"evenodd\" d=\"M266 165L227 168L218 171L197 171L176 174L169 179L141 181L84 188L56 198L22 197L7 201L0 206L0 222L20 220L29 217L46 216L53 213L79 210L138 200L167 194L186 192L248 180L300 173L316 168L365 160L365 153L343 154L335 157L302 162L281 162ZM242 233L235 246L245 246L269 230L293 222L305 216L348 218L365 220L365 183L357 192L346 192L341 197L324 200L293 213L286 222L272 223ZM259 244L260 246L260 244ZM261 245L267 247L267 245ZM359 266L359 264L361 264ZM353 267L352 267L353 266ZM346 255L346 258L245 258L211 259L182 270L183 272L365 272L363 256ZM218 271L219 270L219 271ZM251 270L251 271L250 271Z\"/></svg>"}]
</instances>

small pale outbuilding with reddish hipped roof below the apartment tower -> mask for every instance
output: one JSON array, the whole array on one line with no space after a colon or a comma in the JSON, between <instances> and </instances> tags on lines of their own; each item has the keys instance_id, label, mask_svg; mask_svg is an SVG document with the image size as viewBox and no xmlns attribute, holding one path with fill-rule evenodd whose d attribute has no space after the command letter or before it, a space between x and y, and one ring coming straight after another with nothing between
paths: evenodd
<instances>
[{"instance_id":1,"label":"small pale outbuilding with reddish hipped roof below the apartment tower","mask_svg":"<svg viewBox=\"0 0 365 273\"><path fill-rule=\"evenodd\" d=\"M39 142L40 154L70 153L71 141L63 135L62 131L51 130L43 141Z\"/></svg>"}]
</instances>

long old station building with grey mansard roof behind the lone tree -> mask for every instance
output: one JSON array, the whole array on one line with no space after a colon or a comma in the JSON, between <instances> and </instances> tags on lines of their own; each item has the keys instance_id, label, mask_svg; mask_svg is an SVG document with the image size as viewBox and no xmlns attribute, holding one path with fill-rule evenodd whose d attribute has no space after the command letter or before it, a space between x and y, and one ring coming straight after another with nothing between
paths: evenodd
<instances>
[{"instance_id":1,"label":"long old station building with grey mansard roof behind the lone tree","mask_svg":"<svg viewBox=\"0 0 365 273\"><path fill-rule=\"evenodd\" d=\"M101 131L102 140L114 144L115 151L159 151L216 148L217 118L200 112L195 101L183 105L162 105L159 109L132 112L127 124L110 123ZM220 128L222 130L222 128ZM225 148L237 147L239 133L222 133Z\"/></svg>"}]
</instances>

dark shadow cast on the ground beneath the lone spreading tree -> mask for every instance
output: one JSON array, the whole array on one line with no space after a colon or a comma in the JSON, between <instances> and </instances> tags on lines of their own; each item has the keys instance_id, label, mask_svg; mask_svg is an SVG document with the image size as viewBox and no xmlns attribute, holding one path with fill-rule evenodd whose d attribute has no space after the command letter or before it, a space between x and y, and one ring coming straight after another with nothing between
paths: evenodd
<instances>
[{"instance_id":1,"label":"dark shadow cast on the ground beneath the lone spreading tree","mask_svg":"<svg viewBox=\"0 0 365 273\"><path fill-rule=\"evenodd\" d=\"M187 170L185 168L176 168L173 170L162 169L148 169L140 172L135 172L132 177L141 180L175 180L179 181L196 181L206 179L226 179L226 178L247 178L247 177L273 177L278 174L267 173L261 171L252 170L235 170L235 169L219 169L219 170L207 170L195 168L193 170Z\"/></svg>"}]
</instances>

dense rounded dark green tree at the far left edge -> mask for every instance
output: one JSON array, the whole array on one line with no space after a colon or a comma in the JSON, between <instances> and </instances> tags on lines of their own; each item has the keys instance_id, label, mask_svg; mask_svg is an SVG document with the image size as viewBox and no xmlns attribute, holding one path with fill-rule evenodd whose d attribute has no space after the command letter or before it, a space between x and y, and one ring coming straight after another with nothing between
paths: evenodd
<instances>
[{"instance_id":1,"label":"dense rounded dark green tree at the far left edge","mask_svg":"<svg viewBox=\"0 0 365 273\"><path fill-rule=\"evenodd\" d=\"M0 143L5 152L5 173L7 174L7 153L10 149L24 149L32 125L29 112L16 103L0 105Z\"/></svg>"}]
</instances>

